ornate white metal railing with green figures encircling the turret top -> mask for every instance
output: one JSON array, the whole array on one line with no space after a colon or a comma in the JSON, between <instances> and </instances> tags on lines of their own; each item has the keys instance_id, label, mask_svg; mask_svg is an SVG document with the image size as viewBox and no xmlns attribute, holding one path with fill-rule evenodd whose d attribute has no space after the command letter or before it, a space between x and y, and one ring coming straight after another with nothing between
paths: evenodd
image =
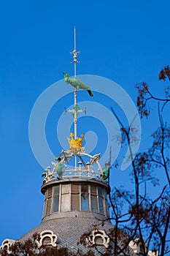
<instances>
[{"instance_id":1,"label":"ornate white metal railing with green figures encircling the turret top","mask_svg":"<svg viewBox=\"0 0 170 256\"><path fill-rule=\"evenodd\" d=\"M52 162L53 170L48 166L45 170L45 173L42 173L43 184L55 179L61 180L66 178L94 178L98 181L104 181L107 183L109 178L109 167L108 164L105 164L105 167L101 168L99 159L100 154L95 154L91 156L85 152L77 152L74 155L70 151L61 151L60 157L56 158L57 162ZM75 165L70 166L68 163L70 159L74 157ZM77 157L80 158L80 161L77 162ZM90 157L89 162L85 163L85 160L82 157Z\"/></svg>"}]
</instances>

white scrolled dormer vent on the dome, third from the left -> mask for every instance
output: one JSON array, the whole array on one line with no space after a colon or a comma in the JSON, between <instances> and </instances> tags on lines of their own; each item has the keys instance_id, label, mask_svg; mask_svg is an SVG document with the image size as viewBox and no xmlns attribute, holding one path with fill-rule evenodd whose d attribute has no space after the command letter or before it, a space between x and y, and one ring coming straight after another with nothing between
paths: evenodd
<instances>
[{"instance_id":1,"label":"white scrolled dormer vent on the dome, third from the left","mask_svg":"<svg viewBox=\"0 0 170 256\"><path fill-rule=\"evenodd\" d=\"M104 230L93 230L88 238L86 238L88 246L99 245L109 247L109 236Z\"/></svg>"}]
</instances>

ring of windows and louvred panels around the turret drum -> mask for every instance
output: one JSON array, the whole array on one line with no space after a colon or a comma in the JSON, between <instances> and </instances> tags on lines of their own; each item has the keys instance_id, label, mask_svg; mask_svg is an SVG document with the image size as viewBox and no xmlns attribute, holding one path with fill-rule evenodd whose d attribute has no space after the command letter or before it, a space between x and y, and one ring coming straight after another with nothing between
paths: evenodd
<instances>
[{"instance_id":1,"label":"ring of windows and louvred panels around the turret drum","mask_svg":"<svg viewBox=\"0 0 170 256\"><path fill-rule=\"evenodd\" d=\"M49 187L45 192L43 217L64 211L93 211L109 217L107 191L96 184Z\"/></svg>"}]
</instances>

